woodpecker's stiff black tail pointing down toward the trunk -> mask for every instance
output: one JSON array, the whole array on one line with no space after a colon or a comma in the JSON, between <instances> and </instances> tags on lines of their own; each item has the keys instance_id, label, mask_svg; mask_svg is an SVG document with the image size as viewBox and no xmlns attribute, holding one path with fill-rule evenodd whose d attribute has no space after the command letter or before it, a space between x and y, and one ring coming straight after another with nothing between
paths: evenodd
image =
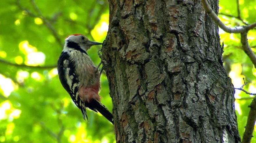
<instances>
[{"instance_id":1,"label":"woodpecker's stiff black tail pointing down toward the trunk","mask_svg":"<svg viewBox=\"0 0 256 143\"><path fill-rule=\"evenodd\" d=\"M107 118L112 124L114 124L112 113L109 112L107 107L105 107L105 105L100 103L98 100L92 99L88 107L95 112L100 112L105 118Z\"/></svg>"}]
</instances>

